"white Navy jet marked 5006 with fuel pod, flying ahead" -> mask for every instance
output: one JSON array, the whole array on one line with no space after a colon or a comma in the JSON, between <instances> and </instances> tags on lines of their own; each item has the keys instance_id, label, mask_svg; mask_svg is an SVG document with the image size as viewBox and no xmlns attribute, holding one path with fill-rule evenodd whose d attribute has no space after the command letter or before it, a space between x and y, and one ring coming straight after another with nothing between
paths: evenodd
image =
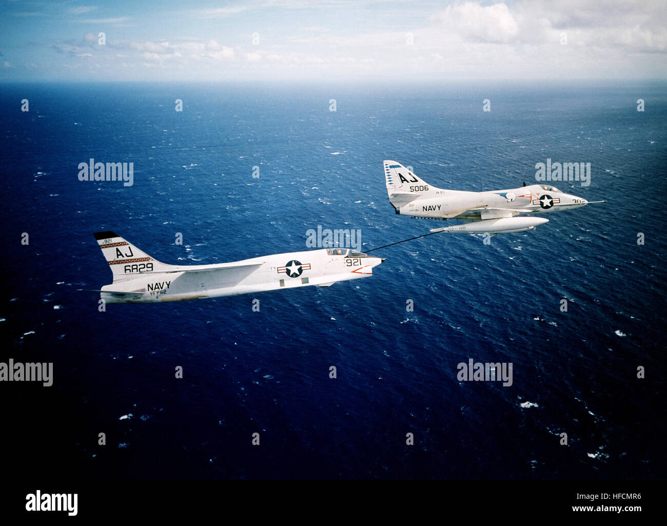
<instances>
[{"instance_id":1,"label":"white Navy jet marked 5006 with fuel pod, flying ahead","mask_svg":"<svg viewBox=\"0 0 667 526\"><path fill-rule=\"evenodd\" d=\"M534 230L536 226L548 222L548 219L515 216L570 210L589 203L606 202L589 202L546 184L491 192L443 190L421 180L405 166L394 161L384 162L384 176L387 180L389 202L396 214L464 222L455 226L434 228L431 232L500 234Z\"/></svg>"}]
</instances>

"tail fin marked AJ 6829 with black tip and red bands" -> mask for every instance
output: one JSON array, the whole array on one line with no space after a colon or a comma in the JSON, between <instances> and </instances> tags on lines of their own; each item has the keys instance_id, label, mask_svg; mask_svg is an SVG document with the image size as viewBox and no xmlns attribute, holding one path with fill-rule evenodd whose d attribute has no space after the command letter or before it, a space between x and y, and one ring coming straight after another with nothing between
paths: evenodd
<instances>
[{"instance_id":1,"label":"tail fin marked AJ 6829 with black tip and red bands","mask_svg":"<svg viewBox=\"0 0 667 526\"><path fill-rule=\"evenodd\" d=\"M95 239L109 263L113 281L133 278L145 272L163 272L174 267L151 258L114 232L95 232Z\"/></svg>"}]
</instances>

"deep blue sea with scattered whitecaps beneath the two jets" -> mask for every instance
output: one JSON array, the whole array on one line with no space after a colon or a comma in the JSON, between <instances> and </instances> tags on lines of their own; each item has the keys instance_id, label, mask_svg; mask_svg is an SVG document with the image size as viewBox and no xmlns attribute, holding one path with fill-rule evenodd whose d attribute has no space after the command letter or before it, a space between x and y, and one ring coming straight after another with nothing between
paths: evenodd
<instances>
[{"instance_id":1,"label":"deep blue sea with scattered whitecaps beneath the two jets","mask_svg":"<svg viewBox=\"0 0 667 526\"><path fill-rule=\"evenodd\" d=\"M0 85L1 357L54 368L0 384L3 452L71 479L664 479L666 119L659 83ZM133 186L80 182L90 158ZM590 162L556 186L608 202L384 248L329 288L106 312L78 290L111 282L93 232L172 264L305 250L318 225L370 250L445 226L394 214L383 160L496 190L547 158ZM512 386L458 381L470 358Z\"/></svg>"}]
</instances>

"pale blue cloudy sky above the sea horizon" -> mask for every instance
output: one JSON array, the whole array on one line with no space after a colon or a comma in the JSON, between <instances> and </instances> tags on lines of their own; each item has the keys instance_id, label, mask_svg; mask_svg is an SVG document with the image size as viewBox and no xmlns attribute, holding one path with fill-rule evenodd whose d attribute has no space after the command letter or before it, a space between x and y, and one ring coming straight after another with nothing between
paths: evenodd
<instances>
[{"instance_id":1,"label":"pale blue cloudy sky above the sea horizon","mask_svg":"<svg viewBox=\"0 0 667 526\"><path fill-rule=\"evenodd\" d=\"M0 80L667 79L664 0L0 2Z\"/></svg>"}]
</instances>

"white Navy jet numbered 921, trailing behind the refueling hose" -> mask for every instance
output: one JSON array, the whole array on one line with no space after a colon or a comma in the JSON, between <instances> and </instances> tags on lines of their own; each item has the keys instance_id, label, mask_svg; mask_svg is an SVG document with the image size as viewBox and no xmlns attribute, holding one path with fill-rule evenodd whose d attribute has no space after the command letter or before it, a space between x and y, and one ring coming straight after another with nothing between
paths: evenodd
<instances>
[{"instance_id":1,"label":"white Navy jet numbered 921, trailing behind the refueling hose","mask_svg":"<svg viewBox=\"0 0 667 526\"><path fill-rule=\"evenodd\" d=\"M323 248L273 254L213 265L167 265L151 258L113 232L97 232L113 283L100 292L107 303L196 300L262 290L368 278L383 258L349 248Z\"/></svg>"}]
</instances>

